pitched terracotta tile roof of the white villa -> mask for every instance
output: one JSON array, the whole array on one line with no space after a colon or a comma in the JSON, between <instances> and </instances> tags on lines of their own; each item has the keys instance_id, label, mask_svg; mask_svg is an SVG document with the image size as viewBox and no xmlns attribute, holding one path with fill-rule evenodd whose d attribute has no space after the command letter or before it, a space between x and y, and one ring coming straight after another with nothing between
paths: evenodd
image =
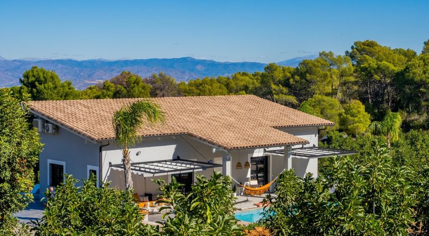
<instances>
[{"instance_id":1,"label":"pitched terracotta tile roof of the white villa","mask_svg":"<svg viewBox=\"0 0 429 236\"><path fill-rule=\"evenodd\" d=\"M31 101L29 110L95 142L114 139L113 113L144 99ZM254 95L159 97L147 99L165 113L165 123L144 125L139 134L188 134L227 150L308 143L280 127L333 122Z\"/></svg>"}]
</instances>

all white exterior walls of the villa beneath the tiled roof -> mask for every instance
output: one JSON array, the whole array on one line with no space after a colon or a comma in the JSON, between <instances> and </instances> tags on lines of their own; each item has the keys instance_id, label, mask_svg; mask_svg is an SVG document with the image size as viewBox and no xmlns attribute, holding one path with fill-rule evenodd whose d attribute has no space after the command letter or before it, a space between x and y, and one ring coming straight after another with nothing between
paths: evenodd
<instances>
[{"instance_id":1,"label":"all white exterior walls of the villa beneath the tiled roof","mask_svg":"<svg viewBox=\"0 0 429 236\"><path fill-rule=\"evenodd\" d=\"M310 142L306 146L317 146L317 128L300 127L300 128L282 128L282 131L302 137ZM99 166L99 147L100 143L94 144L85 142L85 139L58 127L58 134L41 133L41 142L45 144L44 150L40 154L40 187L41 191L48 187L48 164L47 160L55 160L66 163L65 173L73 174L77 179L87 178L87 165ZM188 144L189 143L189 144ZM106 141L103 144L107 144ZM301 145L295 146L300 147ZM198 150L198 151L196 151ZM280 147L277 147L277 149ZM213 147L198 140L194 140L188 135L146 137L142 143L137 144L130 149L132 162L148 162L156 160L171 160L180 156L181 159L207 162L212 160L213 163L222 164L222 152L212 152ZM140 155L136 155L137 152ZM205 157L203 157L200 153ZM102 180L110 181L111 187L124 188L123 171L113 170L109 167L112 164L121 164L121 150L116 147L114 142L109 146L103 147L102 152L103 168ZM263 148L236 150L231 151L230 170L231 176L238 182L244 183L249 180L250 169L244 168L246 161L250 162L252 156L263 156ZM237 162L243 165L242 169L236 169ZM284 156L270 155L270 181L285 168ZM304 176L305 173L312 172L317 176L317 159L292 160L292 167L298 176ZM222 167L214 168L216 171L222 171ZM204 171L198 171L200 174L210 176L213 168ZM169 182L171 175L154 176L153 178L143 178L138 174L132 174L134 189L138 194L158 193L158 187L151 179L163 178Z\"/></svg>"}]
</instances>

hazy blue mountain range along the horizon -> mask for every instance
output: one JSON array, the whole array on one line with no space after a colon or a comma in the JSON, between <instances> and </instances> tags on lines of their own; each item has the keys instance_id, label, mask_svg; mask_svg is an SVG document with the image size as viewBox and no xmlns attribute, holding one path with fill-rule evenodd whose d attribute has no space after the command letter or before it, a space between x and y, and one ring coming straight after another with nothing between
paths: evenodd
<instances>
[{"instance_id":1,"label":"hazy blue mountain range along the horizon","mask_svg":"<svg viewBox=\"0 0 429 236\"><path fill-rule=\"evenodd\" d=\"M277 64L296 67L303 59L315 57L314 55L295 57ZM62 80L70 80L77 89L84 89L100 81L108 80L124 70L142 77L163 71L176 78L176 81L189 81L193 78L206 76L227 76L238 71L249 73L263 71L265 65L257 62L216 62L192 57L76 61L73 59L41 58L6 60L0 56L0 87L19 85L19 78L22 77L24 71L32 66L56 71Z\"/></svg>"}]
</instances>

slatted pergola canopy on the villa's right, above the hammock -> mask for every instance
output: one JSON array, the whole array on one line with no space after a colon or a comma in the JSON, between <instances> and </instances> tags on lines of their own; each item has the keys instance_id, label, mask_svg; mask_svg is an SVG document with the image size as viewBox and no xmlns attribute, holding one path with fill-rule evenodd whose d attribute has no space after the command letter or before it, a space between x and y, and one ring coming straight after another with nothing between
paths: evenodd
<instances>
[{"instance_id":1,"label":"slatted pergola canopy on the villa's right, above the hammock","mask_svg":"<svg viewBox=\"0 0 429 236\"><path fill-rule=\"evenodd\" d=\"M276 155L284 155L284 149L265 150L265 153L271 153ZM352 155L356 151L344 150L344 149L333 149L325 147L302 147L293 148L291 156L293 158L300 159L313 159L313 158L327 158L334 155Z\"/></svg>"}]
</instances>

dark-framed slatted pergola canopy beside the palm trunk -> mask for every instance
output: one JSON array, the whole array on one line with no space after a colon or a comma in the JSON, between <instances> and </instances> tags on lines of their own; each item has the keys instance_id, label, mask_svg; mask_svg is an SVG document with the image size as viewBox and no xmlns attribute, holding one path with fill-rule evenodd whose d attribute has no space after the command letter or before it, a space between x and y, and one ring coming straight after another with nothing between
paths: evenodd
<instances>
[{"instance_id":1,"label":"dark-framed slatted pergola canopy beside the palm trunk","mask_svg":"<svg viewBox=\"0 0 429 236\"><path fill-rule=\"evenodd\" d=\"M110 167L123 170L122 164L110 164ZM222 165L184 159L131 163L131 171L143 176L187 173L193 171L202 171L215 167L222 167Z\"/></svg>"}]
</instances>

